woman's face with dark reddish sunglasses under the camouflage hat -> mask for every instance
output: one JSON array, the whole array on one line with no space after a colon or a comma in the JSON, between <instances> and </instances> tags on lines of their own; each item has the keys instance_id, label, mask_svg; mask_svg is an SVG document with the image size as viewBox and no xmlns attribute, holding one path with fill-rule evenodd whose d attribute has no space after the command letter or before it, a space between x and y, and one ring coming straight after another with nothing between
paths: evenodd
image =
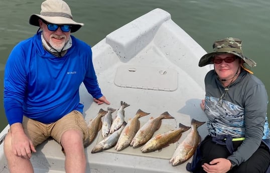
<instances>
[{"instance_id":1,"label":"woman's face with dark reddish sunglasses under the camouflage hat","mask_svg":"<svg viewBox=\"0 0 270 173\"><path fill-rule=\"evenodd\" d=\"M240 58L230 53L215 55L213 62L215 71L221 80L232 79L241 65Z\"/></svg>"}]
</instances>

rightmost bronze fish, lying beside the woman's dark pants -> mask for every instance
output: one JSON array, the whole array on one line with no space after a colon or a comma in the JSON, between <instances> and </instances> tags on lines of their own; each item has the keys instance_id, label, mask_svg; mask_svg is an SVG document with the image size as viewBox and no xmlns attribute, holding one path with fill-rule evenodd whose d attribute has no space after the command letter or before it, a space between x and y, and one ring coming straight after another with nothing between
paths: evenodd
<instances>
[{"instance_id":1,"label":"rightmost bronze fish, lying beside the woman's dark pants","mask_svg":"<svg viewBox=\"0 0 270 173\"><path fill-rule=\"evenodd\" d=\"M201 141L201 136L199 135L197 129L204 123L205 122L200 122L192 119L191 131L188 133L187 137L178 145L172 158L169 161L173 166L185 162L194 154L198 144Z\"/></svg>"}]
</instances>

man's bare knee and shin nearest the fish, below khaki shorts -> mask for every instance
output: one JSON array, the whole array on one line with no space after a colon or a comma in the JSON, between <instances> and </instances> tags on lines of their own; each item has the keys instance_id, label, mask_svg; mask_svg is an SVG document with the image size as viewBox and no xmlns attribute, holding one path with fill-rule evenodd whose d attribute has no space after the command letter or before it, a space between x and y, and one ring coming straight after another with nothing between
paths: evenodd
<instances>
[{"instance_id":1,"label":"man's bare knee and shin nearest the fish, below khaki shorts","mask_svg":"<svg viewBox=\"0 0 270 173\"><path fill-rule=\"evenodd\" d=\"M85 173L86 157L83 146L83 134L79 130L65 131L61 136L61 145L64 148L67 173Z\"/></svg>"}]
</instances>

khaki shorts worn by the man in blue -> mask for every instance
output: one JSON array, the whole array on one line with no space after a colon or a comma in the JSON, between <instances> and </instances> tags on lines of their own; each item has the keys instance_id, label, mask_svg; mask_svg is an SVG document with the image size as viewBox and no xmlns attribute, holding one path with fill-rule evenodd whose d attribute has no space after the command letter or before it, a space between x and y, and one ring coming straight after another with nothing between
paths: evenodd
<instances>
[{"instance_id":1,"label":"khaki shorts worn by the man in blue","mask_svg":"<svg viewBox=\"0 0 270 173\"><path fill-rule=\"evenodd\" d=\"M25 133L33 141L35 147L49 137L52 137L60 144L62 134L70 129L81 131L84 141L87 136L87 124L84 121L82 114L76 110L51 124L44 124L24 116L23 126Z\"/></svg>"}]
</instances>

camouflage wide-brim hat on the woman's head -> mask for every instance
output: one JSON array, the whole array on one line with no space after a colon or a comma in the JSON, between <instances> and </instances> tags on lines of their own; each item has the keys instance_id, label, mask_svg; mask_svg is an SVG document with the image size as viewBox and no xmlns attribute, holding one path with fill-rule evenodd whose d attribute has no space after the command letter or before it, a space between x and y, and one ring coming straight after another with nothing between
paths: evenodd
<instances>
[{"instance_id":1,"label":"camouflage wide-brim hat on the woman's head","mask_svg":"<svg viewBox=\"0 0 270 173\"><path fill-rule=\"evenodd\" d=\"M214 55L222 53L230 53L236 55L239 58L243 59L244 62L250 67L256 66L255 61L243 55L242 41L240 39L228 37L222 40L216 40L213 44L213 49L214 52L202 56L202 58L199 61L199 67L203 67L208 64L213 64L212 59Z\"/></svg>"}]
</instances>

